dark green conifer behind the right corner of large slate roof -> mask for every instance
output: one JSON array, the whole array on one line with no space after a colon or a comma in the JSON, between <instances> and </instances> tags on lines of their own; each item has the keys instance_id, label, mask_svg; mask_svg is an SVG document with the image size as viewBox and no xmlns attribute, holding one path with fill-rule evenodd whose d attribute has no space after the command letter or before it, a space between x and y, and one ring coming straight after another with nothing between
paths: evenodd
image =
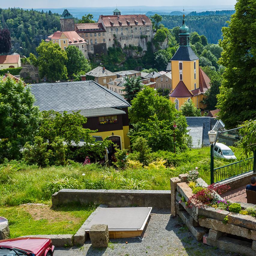
<instances>
[{"instance_id":1,"label":"dark green conifer behind the right corner of large slate roof","mask_svg":"<svg viewBox=\"0 0 256 256\"><path fill-rule=\"evenodd\" d=\"M131 102L142 89L142 83L140 80L140 77L125 77L125 89L122 91L125 92L124 98L128 102Z\"/></svg>"}]
</instances>

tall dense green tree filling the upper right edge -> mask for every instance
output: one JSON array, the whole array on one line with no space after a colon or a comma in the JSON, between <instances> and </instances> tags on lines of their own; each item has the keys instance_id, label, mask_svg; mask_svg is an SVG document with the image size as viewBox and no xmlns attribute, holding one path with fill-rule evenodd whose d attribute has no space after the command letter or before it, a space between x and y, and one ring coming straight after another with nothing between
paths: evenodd
<instances>
[{"instance_id":1,"label":"tall dense green tree filling the upper right edge","mask_svg":"<svg viewBox=\"0 0 256 256\"><path fill-rule=\"evenodd\" d=\"M256 113L256 2L239 0L228 27L222 29L223 48L219 63L225 67L220 94L218 117L225 127L234 128ZM241 107L239 107L241 106Z\"/></svg>"}]
</instances>

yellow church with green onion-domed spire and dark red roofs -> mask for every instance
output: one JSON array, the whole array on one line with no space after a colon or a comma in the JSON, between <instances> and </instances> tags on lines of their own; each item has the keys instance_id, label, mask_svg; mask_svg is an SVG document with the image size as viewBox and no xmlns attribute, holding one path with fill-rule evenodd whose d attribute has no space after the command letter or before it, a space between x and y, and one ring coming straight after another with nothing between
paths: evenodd
<instances>
[{"instance_id":1,"label":"yellow church with green onion-domed spire and dark red roofs","mask_svg":"<svg viewBox=\"0 0 256 256\"><path fill-rule=\"evenodd\" d=\"M177 110L185 101L192 100L203 113L204 105L201 101L210 88L210 80L199 67L199 58L189 45L188 31L183 15L183 24L179 29L179 49L171 59L172 91L169 97Z\"/></svg>"}]
</instances>

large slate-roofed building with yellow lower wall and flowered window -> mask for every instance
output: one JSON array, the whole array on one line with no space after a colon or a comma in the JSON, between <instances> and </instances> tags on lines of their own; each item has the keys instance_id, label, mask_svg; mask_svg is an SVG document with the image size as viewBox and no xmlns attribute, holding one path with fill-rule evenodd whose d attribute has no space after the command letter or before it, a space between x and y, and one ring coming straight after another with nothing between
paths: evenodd
<instances>
[{"instance_id":1,"label":"large slate-roofed building with yellow lower wall and flowered window","mask_svg":"<svg viewBox=\"0 0 256 256\"><path fill-rule=\"evenodd\" d=\"M35 105L41 111L53 109L72 113L80 110L81 115L87 117L84 128L98 130L93 136L109 137L121 149L130 149L127 136L130 104L122 96L91 80L32 84L30 87Z\"/></svg>"}]
</instances>

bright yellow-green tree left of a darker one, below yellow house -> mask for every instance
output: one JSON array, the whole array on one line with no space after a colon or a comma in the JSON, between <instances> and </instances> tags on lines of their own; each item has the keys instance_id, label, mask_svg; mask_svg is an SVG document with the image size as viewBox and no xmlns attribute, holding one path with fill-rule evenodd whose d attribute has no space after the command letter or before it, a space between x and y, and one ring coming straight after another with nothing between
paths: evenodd
<instances>
[{"instance_id":1,"label":"bright yellow-green tree left of a darker one, below yellow house","mask_svg":"<svg viewBox=\"0 0 256 256\"><path fill-rule=\"evenodd\" d=\"M30 53L30 62L38 67L39 76L47 77L51 82L66 80L68 78L65 63L68 61L67 53L58 44L44 42L36 48L38 58Z\"/></svg>"}]
</instances>

